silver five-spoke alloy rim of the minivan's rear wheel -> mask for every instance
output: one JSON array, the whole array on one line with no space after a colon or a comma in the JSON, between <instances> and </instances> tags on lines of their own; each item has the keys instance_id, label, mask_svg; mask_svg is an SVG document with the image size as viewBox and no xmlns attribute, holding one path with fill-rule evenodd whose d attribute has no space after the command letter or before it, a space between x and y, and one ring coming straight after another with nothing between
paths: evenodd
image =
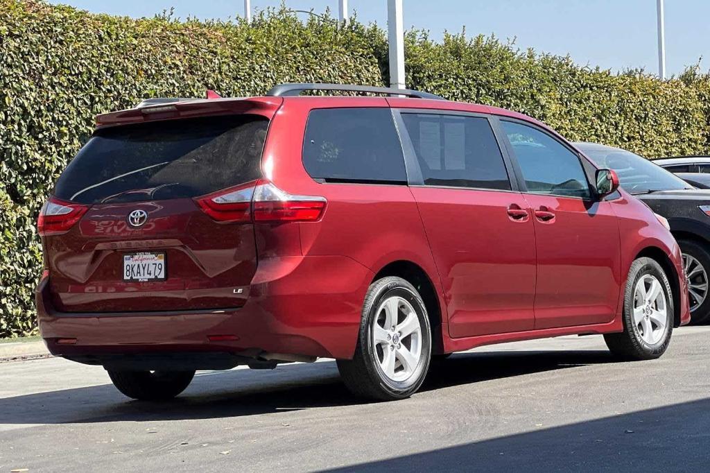
<instances>
[{"instance_id":1,"label":"silver five-spoke alloy rim of the minivan's rear wheel","mask_svg":"<svg viewBox=\"0 0 710 473\"><path fill-rule=\"evenodd\" d=\"M383 374L405 381L422 359L422 327L412 305L398 295L383 300L373 317L373 356Z\"/></svg>"}]
</instances>

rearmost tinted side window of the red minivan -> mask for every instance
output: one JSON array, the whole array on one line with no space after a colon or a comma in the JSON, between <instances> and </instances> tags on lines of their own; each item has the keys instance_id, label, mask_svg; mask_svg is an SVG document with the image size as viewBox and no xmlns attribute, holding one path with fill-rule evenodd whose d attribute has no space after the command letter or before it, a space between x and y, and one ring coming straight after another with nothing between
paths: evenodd
<instances>
[{"instance_id":1,"label":"rearmost tinted side window of the red minivan","mask_svg":"<svg viewBox=\"0 0 710 473\"><path fill-rule=\"evenodd\" d=\"M303 165L327 182L407 183L390 109L317 109L308 115Z\"/></svg>"}]
</instances>

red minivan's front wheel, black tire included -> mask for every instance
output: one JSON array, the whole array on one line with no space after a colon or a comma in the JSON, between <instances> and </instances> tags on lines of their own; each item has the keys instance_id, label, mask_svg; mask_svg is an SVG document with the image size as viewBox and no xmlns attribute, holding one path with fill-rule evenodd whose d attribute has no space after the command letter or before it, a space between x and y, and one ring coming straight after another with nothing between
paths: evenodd
<instances>
[{"instance_id":1,"label":"red minivan's front wheel, black tire included","mask_svg":"<svg viewBox=\"0 0 710 473\"><path fill-rule=\"evenodd\" d=\"M635 260L624 288L623 332L604 335L606 346L622 359L656 359L670 344L673 321L672 291L663 268L650 258Z\"/></svg>"}]
</instances>

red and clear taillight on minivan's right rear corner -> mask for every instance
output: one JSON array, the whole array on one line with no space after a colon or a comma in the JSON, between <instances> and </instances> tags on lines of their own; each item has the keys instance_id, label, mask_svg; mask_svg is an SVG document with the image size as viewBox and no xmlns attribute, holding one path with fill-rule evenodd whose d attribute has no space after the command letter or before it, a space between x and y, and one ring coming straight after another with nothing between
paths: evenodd
<instances>
[{"instance_id":1,"label":"red and clear taillight on minivan's right rear corner","mask_svg":"<svg viewBox=\"0 0 710 473\"><path fill-rule=\"evenodd\" d=\"M292 195L268 180L229 187L195 199L217 222L310 222L320 219L324 197Z\"/></svg>"}]
</instances>

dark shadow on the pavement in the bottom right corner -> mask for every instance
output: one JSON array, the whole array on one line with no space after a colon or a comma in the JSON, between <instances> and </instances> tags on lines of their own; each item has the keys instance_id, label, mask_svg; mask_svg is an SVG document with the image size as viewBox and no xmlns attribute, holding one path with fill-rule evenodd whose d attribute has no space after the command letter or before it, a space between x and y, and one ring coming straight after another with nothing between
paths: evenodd
<instances>
[{"instance_id":1,"label":"dark shadow on the pavement in the bottom right corner","mask_svg":"<svg viewBox=\"0 0 710 473\"><path fill-rule=\"evenodd\" d=\"M710 398L331 472L706 472Z\"/></svg>"}]
</instances>

